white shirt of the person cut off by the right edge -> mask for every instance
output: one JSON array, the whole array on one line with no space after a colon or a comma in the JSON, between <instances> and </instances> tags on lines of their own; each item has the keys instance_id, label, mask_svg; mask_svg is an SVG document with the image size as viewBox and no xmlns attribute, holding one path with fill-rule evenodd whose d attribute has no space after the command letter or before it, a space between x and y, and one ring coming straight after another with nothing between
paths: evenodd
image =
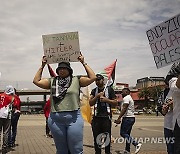
<instances>
[{"instance_id":1,"label":"white shirt of the person cut off by the right edge","mask_svg":"<svg viewBox=\"0 0 180 154\"><path fill-rule=\"evenodd\" d=\"M177 79L178 78L174 77L169 81L173 98L173 129L176 121L180 127L180 89L176 86Z\"/></svg>"}]
</instances>

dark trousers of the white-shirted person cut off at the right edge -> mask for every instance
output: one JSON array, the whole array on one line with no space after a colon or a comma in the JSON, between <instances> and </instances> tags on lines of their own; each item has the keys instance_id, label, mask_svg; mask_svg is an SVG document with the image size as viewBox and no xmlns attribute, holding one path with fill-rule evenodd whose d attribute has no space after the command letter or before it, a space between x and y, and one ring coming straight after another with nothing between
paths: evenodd
<instances>
[{"instance_id":1,"label":"dark trousers of the white-shirted person cut off at the right edge","mask_svg":"<svg viewBox=\"0 0 180 154\"><path fill-rule=\"evenodd\" d=\"M174 137L174 154L180 154L180 127L178 126L177 121L174 127Z\"/></svg>"}]
</instances>

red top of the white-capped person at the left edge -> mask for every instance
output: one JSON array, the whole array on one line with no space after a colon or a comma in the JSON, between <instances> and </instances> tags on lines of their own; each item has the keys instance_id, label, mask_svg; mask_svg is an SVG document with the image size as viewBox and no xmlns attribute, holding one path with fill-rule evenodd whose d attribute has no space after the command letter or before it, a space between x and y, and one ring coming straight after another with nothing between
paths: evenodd
<instances>
[{"instance_id":1,"label":"red top of the white-capped person at the left edge","mask_svg":"<svg viewBox=\"0 0 180 154\"><path fill-rule=\"evenodd\" d=\"M0 108L7 106L12 102L13 96L5 93L0 94Z\"/></svg>"}]
</instances>

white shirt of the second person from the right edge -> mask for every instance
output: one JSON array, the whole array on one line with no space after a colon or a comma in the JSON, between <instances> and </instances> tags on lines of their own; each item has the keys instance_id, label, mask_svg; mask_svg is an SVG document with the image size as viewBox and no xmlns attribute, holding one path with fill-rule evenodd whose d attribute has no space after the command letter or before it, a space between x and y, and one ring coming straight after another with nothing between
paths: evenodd
<instances>
[{"instance_id":1,"label":"white shirt of the second person from the right edge","mask_svg":"<svg viewBox=\"0 0 180 154\"><path fill-rule=\"evenodd\" d=\"M172 99L172 91L169 90L169 93L166 96L166 99ZM166 115L164 116L164 128L173 130L173 110L169 109Z\"/></svg>"}]
</instances>

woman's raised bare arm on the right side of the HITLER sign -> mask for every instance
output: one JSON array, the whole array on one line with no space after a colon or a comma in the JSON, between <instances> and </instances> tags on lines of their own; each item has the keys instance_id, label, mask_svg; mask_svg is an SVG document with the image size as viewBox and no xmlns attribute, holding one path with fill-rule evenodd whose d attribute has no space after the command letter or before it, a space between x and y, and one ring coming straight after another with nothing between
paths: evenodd
<instances>
[{"instance_id":1,"label":"woman's raised bare arm on the right side of the HITLER sign","mask_svg":"<svg viewBox=\"0 0 180 154\"><path fill-rule=\"evenodd\" d=\"M86 87L96 80L96 75L95 75L94 71L88 66L88 64L84 62L84 57L82 55L80 55L78 59L84 66L86 73L87 73L87 76L82 76L80 78L80 80L79 80L80 86Z\"/></svg>"}]
</instances>

